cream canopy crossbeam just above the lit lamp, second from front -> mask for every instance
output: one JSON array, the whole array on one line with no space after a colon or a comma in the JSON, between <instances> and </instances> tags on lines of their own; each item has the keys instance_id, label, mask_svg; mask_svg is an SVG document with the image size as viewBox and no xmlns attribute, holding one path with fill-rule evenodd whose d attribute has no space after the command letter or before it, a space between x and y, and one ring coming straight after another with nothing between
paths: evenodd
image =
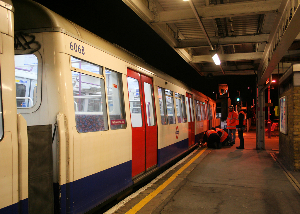
<instances>
[{"instance_id":1,"label":"cream canopy crossbeam just above the lit lamp, second from front","mask_svg":"<svg viewBox=\"0 0 300 214\"><path fill-rule=\"evenodd\" d=\"M226 37L211 37L211 43L213 45L237 45L237 44L256 44L266 43L268 41L269 34L251 34L241 36L226 36ZM195 47L208 47L209 44L206 39L179 39L177 40L176 49L181 48L195 48Z\"/></svg>"}]
</instances>

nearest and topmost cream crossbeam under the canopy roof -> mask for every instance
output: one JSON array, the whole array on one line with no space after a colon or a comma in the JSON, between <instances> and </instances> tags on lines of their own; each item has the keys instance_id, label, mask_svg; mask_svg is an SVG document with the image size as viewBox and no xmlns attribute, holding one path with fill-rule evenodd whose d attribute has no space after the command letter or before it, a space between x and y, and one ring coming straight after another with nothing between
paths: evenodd
<instances>
[{"instance_id":1,"label":"nearest and topmost cream crossbeam under the canopy roof","mask_svg":"<svg viewBox=\"0 0 300 214\"><path fill-rule=\"evenodd\" d=\"M124 0L123 0L124 1ZM208 5L196 7L201 19L215 19L224 17L247 16L254 14L275 13L279 7L280 0L236 2L220 5ZM152 25L174 22L186 22L196 20L190 8L156 11Z\"/></svg>"}]
</instances>

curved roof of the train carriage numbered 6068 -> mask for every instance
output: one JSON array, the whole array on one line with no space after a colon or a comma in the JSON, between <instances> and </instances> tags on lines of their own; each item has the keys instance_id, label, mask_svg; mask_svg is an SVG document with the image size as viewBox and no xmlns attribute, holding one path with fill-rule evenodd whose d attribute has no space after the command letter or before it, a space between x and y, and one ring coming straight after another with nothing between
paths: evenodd
<instances>
[{"instance_id":1,"label":"curved roof of the train carriage numbered 6068","mask_svg":"<svg viewBox=\"0 0 300 214\"><path fill-rule=\"evenodd\" d=\"M65 19L37 2L31 0L13 0L13 5L15 8L14 23L16 32L62 32L121 60L129 62L144 70L146 69L146 71L149 71L153 75L163 78L170 83L181 86L189 91L192 90L182 81L154 68L122 47L106 41L98 35L95 35L72 21Z\"/></svg>"}]
</instances>

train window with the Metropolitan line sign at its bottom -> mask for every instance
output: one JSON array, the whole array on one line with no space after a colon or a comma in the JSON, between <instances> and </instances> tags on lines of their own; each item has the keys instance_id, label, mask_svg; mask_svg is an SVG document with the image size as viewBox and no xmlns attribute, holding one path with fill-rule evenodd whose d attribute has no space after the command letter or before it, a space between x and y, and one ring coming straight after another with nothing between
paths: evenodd
<instances>
[{"instance_id":1,"label":"train window with the Metropolitan line sign at its bottom","mask_svg":"<svg viewBox=\"0 0 300 214\"><path fill-rule=\"evenodd\" d=\"M122 74L105 69L110 129L125 129L125 104Z\"/></svg>"}]
</instances>

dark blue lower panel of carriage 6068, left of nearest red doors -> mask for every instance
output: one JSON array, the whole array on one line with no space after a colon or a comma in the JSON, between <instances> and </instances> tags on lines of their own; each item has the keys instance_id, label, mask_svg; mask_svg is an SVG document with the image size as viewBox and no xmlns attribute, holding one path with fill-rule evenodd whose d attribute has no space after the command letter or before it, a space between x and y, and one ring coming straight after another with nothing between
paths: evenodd
<instances>
[{"instance_id":1,"label":"dark blue lower panel of carriage 6068, left of nearest red doors","mask_svg":"<svg viewBox=\"0 0 300 214\"><path fill-rule=\"evenodd\" d=\"M130 160L61 186L54 183L55 207L58 213L84 213L132 184Z\"/></svg>"}]
</instances>

